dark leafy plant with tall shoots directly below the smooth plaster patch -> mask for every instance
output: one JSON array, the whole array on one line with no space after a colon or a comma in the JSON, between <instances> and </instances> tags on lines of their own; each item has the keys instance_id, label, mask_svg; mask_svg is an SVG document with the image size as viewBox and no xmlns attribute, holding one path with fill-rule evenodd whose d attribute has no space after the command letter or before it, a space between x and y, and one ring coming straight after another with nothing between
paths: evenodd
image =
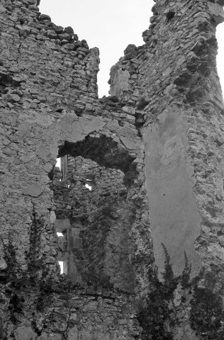
<instances>
[{"instance_id":1,"label":"dark leafy plant with tall shoots directly below the smooth plaster patch","mask_svg":"<svg viewBox=\"0 0 224 340\"><path fill-rule=\"evenodd\" d=\"M189 285L191 266L184 253L185 266L181 276L175 277L167 248L162 244L165 254L163 282L157 271L149 269L150 293L142 303L138 320L142 327L142 340L173 340L172 327L175 324L175 308L172 303L174 291L180 283L182 288Z\"/></svg>"}]
</instances>

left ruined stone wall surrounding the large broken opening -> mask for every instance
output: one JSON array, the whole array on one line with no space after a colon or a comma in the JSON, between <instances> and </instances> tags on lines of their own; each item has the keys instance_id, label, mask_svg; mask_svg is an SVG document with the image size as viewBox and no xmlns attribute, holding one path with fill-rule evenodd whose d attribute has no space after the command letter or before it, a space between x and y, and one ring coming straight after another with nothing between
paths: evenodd
<instances>
[{"instance_id":1,"label":"left ruined stone wall surrounding the large broken opening","mask_svg":"<svg viewBox=\"0 0 224 340\"><path fill-rule=\"evenodd\" d=\"M140 327L133 297L129 299L128 294L139 287L137 279L142 286L146 284L148 260L143 256L139 260L138 254L143 251L152 258L147 239L143 147L135 119L123 114L117 98L97 99L99 52L89 50L72 28L55 26L31 0L1 1L0 16L4 179L0 336L18 340L135 339ZM112 206L105 198L108 212L113 211L113 215L106 215L107 229L98 214L105 208L100 205L100 193L106 189L99 186L85 225L76 219L77 201L82 205L78 181L74 179L76 186L70 183L69 190L62 186L62 191L57 183L59 200L66 197L71 205L59 204L56 192L54 196L58 178L52 176L57 172L53 168L66 143L76 145L75 155L92 159L100 169L114 168L108 172L111 182L116 174L114 188L109 190L116 193L118 183L121 188ZM78 176L79 171L71 176ZM118 176L121 171L125 186ZM120 195L123 190L124 196ZM84 208L87 196L82 197ZM130 214L125 196L131 202ZM58 244L56 234L62 208L66 210L62 224L66 229L69 220L70 232L72 265L67 276L60 276L58 265L65 246ZM92 221L95 232L91 232ZM136 235L134 240L132 234ZM93 256L97 259L91 268ZM138 268L137 273L134 268ZM87 278L82 278L84 274Z\"/></svg>"}]
</instances>

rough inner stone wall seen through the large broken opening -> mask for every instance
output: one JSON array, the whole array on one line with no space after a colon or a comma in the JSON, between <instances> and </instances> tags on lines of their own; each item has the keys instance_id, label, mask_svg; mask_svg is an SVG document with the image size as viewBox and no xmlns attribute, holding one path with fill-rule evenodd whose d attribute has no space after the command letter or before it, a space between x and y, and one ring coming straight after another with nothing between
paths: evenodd
<instances>
[{"instance_id":1,"label":"rough inner stone wall seen through the large broken opening","mask_svg":"<svg viewBox=\"0 0 224 340\"><path fill-rule=\"evenodd\" d=\"M53 180L56 229L65 234L58 259L67 261L73 283L133 292L135 214L128 208L124 174L90 159L67 158L66 180Z\"/></svg>"}]
</instances>

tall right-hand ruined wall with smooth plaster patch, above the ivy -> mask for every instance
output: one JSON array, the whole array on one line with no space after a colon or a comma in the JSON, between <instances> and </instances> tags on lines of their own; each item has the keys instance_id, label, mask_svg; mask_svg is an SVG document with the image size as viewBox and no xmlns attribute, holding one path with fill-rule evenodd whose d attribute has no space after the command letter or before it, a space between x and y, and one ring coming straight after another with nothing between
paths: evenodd
<instances>
[{"instance_id":1,"label":"tall right-hand ruined wall with smooth plaster patch, above the ivy","mask_svg":"<svg viewBox=\"0 0 224 340\"><path fill-rule=\"evenodd\" d=\"M201 260L214 263L203 243L211 235L220 269L223 261L223 96L215 62L222 5L157 1L145 45L129 45L111 69L111 94L135 114L145 143L155 262L162 268L163 242L178 273L184 251L196 271Z\"/></svg>"}]
</instances>

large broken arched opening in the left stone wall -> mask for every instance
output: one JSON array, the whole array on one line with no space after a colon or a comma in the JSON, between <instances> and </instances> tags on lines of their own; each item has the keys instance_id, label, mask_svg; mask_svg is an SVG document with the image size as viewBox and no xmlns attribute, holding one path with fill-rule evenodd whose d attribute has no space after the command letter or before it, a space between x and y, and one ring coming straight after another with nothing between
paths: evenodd
<instances>
[{"instance_id":1,"label":"large broken arched opening in the left stone wall","mask_svg":"<svg viewBox=\"0 0 224 340\"><path fill-rule=\"evenodd\" d=\"M105 135L66 141L59 156L62 172L53 171L52 190L61 273L84 286L133 291L130 231L135 212L128 190L136 176L135 158Z\"/></svg>"}]
</instances>

